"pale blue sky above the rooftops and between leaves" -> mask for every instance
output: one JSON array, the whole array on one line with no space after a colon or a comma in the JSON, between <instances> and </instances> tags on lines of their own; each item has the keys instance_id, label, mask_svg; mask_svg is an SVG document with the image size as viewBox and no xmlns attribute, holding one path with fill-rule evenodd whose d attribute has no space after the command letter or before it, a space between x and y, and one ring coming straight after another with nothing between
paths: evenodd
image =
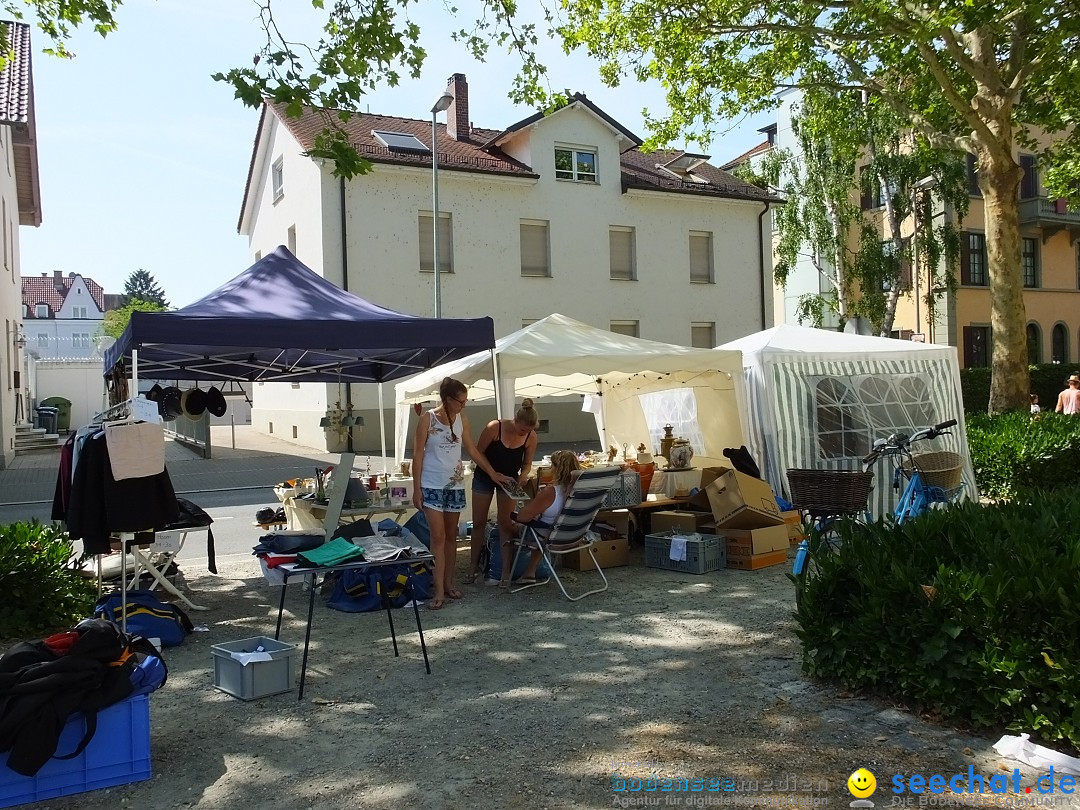
<instances>
[{"instance_id":1,"label":"pale blue sky above the rooftops and between leaves","mask_svg":"<svg viewBox=\"0 0 1080 810\"><path fill-rule=\"evenodd\" d=\"M306 0L279 4L310 8ZM516 57L492 53L477 63L441 33L464 27L468 10L455 23L443 3L413 9L428 51L423 75L377 90L368 102L373 112L427 119L454 72L469 79L477 126L501 127L531 112L507 98ZM297 13L283 21L286 33L310 41L314 18ZM116 33L76 35L72 60L41 54L45 40L35 30L43 216L40 228L19 229L24 275L78 272L121 293L143 268L172 306L183 307L246 268L237 218L258 112L210 76L249 64L261 33L256 14L247 0L131 0L119 10ZM553 87L585 93L642 136L643 108L664 109L659 86L611 90L586 57L555 48L542 55ZM766 123L733 122L716 133L714 162L758 143L756 129Z\"/></svg>"}]
</instances>

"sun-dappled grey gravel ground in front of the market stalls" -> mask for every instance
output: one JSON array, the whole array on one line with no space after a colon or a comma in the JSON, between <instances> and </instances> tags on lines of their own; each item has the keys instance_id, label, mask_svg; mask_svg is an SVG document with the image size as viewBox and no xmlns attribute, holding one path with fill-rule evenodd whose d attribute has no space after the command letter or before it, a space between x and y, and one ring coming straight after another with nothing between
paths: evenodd
<instances>
[{"instance_id":1,"label":"sun-dappled grey gravel ground in front of the market stalls","mask_svg":"<svg viewBox=\"0 0 1080 810\"><path fill-rule=\"evenodd\" d=\"M635 551L634 565L608 572L609 591L580 603L553 585L507 594L477 584L441 611L422 610L431 675L411 610L395 613L395 659L384 613L316 602L302 701L294 691L244 702L213 688L211 645L272 636L278 592L254 558L229 558L217 577L192 567L190 586L212 608L192 619L210 632L166 650L168 684L150 700L153 778L39 807L792 807L811 798L846 807L845 782L860 767L877 775L872 798L881 807L895 804L894 773L1016 767L993 752L997 734L802 677L787 566L680 575L644 568ZM462 546L459 561L467 554ZM579 588L586 576L567 572ZM307 596L289 591L282 637L302 646ZM1021 770L1032 784L1037 774ZM702 792L617 789L651 772L706 782ZM735 789L711 792L710 779L731 779Z\"/></svg>"}]
</instances>

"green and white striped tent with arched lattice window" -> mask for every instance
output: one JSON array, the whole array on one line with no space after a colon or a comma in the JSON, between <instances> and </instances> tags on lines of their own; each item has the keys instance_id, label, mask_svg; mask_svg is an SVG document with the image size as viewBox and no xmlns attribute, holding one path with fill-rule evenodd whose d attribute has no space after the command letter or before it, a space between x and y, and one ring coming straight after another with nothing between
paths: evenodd
<instances>
[{"instance_id":1,"label":"green and white striped tent with arched lattice window","mask_svg":"<svg viewBox=\"0 0 1080 810\"><path fill-rule=\"evenodd\" d=\"M778 492L791 496L788 469L859 470L876 438L956 419L913 449L958 453L964 497L977 497L955 348L788 324L717 348L742 352L748 448ZM892 469L873 470L875 516L895 507Z\"/></svg>"}]
</instances>

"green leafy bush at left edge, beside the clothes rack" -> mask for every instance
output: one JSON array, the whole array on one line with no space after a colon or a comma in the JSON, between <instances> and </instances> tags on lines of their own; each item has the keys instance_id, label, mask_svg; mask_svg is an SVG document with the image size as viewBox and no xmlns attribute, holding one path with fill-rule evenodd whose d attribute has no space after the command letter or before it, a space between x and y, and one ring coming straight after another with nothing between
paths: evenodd
<instances>
[{"instance_id":1,"label":"green leafy bush at left edge, beside the clothes rack","mask_svg":"<svg viewBox=\"0 0 1080 810\"><path fill-rule=\"evenodd\" d=\"M97 588L75 567L67 532L54 526L0 526L0 638L30 638L91 615Z\"/></svg>"}]
</instances>

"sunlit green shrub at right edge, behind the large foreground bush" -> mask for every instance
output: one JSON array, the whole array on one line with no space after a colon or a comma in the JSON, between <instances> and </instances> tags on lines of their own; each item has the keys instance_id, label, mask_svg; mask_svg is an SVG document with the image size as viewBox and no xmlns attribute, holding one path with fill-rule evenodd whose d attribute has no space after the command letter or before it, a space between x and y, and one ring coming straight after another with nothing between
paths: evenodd
<instances>
[{"instance_id":1,"label":"sunlit green shrub at right edge, behind the large foreground bush","mask_svg":"<svg viewBox=\"0 0 1080 810\"><path fill-rule=\"evenodd\" d=\"M1031 489L1080 485L1080 418L1042 414L968 417L968 448L978 492L1016 498Z\"/></svg>"}]
</instances>

